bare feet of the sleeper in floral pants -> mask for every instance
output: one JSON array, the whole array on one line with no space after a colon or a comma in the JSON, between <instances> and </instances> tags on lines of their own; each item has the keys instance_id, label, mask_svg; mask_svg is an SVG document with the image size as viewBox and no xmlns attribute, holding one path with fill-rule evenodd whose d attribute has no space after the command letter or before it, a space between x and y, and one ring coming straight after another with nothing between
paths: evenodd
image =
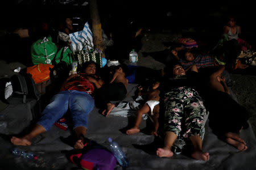
<instances>
[{"instance_id":1,"label":"bare feet of the sleeper in floral pants","mask_svg":"<svg viewBox=\"0 0 256 170\"><path fill-rule=\"evenodd\" d=\"M172 156L174 156L174 152L172 152L170 148L163 147L163 148L158 148L158 150L156 151L156 155L158 155L159 157L171 158ZM207 161L210 159L209 153L203 152L201 150L194 151L191 154L191 157L197 160L204 160L204 161Z\"/></svg>"}]
</instances>

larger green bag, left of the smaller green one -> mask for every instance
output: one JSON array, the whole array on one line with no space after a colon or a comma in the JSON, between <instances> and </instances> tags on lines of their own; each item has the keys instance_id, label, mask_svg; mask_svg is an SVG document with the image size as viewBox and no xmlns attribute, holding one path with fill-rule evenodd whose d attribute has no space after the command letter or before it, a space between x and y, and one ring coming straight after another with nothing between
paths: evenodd
<instances>
[{"instance_id":1,"label":"larger green bag, left of the smaller green one","mask_svg":"<svg viewBox=\"0 0 256 170\"><path fill-rule=\"evenodd\" d=\"M57 46L52 42L52 37L44 37L31 45L31 58L34 65L39 63L52 64L52 59L57 52Z\"/></svg>"}]
</instances>

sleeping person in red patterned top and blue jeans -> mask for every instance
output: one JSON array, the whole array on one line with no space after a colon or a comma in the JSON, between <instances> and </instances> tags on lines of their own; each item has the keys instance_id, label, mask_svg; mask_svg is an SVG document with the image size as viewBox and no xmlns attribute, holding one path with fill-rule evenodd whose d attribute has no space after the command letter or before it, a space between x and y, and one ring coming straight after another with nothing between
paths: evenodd
<instances>
[{"instance_id":1,"label":"sleeping person in red patterned top and blue jeans","mask_svg":"<svg viewBox=\"0 0 256 170\"><path fill-rule=\"evenodd\" d=\"M76 133L76 149L84 147L84 135L88 128L88 114L94 108L93 91L102 86L102 80L96 76L99 66L94 62L86 62L82 67L82 73L73 74L61 86L60 92L52 97L50 103L42 113L30 133L21 138L12 137L14 145L28 146L31 140L46 131L62 118L69 109L73 120L73 130Z\"/></svg>"}]
</instances>

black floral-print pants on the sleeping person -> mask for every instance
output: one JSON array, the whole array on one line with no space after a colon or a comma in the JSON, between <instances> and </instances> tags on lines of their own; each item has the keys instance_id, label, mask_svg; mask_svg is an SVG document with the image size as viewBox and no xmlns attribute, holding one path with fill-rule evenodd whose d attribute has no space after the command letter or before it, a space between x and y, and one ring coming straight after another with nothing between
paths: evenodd
<instances>
[{"instance_id":1,"label":"black floral-print pants on the sleeping person","mask_svg":"<svg viewBox=\"0 0 256 170\"><path fill-rule=\"evenodd\" d=\"M175 154L179 154L191 135L204 138L204 118L207 112L196 90L178 87L164 95L164 130L177 135Z\"/></svg>"}]
</instances>

